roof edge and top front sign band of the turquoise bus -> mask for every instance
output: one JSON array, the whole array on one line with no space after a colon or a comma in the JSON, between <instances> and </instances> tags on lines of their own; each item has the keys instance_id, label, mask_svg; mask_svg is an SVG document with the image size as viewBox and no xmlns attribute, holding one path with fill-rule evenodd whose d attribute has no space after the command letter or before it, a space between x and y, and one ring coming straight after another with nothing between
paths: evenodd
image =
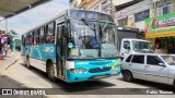
<instances>
[{"instance_id":1,"label":"roof edge and top front sign band of the turquoise bus","mask_svg":"<svg viewBox=\"0 0 175 98\"><path fill-rule=\"evenodd\" d=\"M60 13L55 14L52 17L47 19L46 21L39 23L38 25L35 25L34 27L30 28L27 32L25 32L23 35L32 32L33 29L37 29L38 27L42 27L51 21L55 21L61 16L72 17L72 19L89 19L92 21L108 21L114 22L113 17L106 13L103 12L96 12L96 11L89 11L89 10L75 10L75 9L68 9L66 11L62 11Z\"/></svg>"}]
</instances>

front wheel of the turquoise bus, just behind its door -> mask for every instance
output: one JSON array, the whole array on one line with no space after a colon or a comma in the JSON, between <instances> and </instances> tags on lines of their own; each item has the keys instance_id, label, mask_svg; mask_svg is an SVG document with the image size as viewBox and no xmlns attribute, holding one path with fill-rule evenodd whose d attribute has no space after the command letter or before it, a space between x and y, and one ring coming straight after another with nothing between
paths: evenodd
<instances>
[{"instance_id":1,"label":"front wheel of the turquoise bus, just behind its door","mask_svg":"<svg viewBox=\"0 0 175 98\"><path fill-rule=\"evenodd\" d=\"M47 75L50 81L56 82L55 68L54 68L52 63L50 63L50 62L48 63Z\"/></svg>"}]
</instances>

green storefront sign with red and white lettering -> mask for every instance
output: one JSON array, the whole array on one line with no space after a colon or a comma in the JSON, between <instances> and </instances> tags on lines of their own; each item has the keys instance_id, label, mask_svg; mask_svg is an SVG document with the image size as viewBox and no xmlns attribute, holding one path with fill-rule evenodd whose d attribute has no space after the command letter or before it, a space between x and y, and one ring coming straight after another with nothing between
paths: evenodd
<instances>
[{"instance_id":1,"label":"green storefront sign with red and white lettering","mask_svg":"<svg viewBox=\"0 0 175 98\"><path fill-rule=\"evenodd\" d=\"M145 20L145 33L175 30L175 13Z\"/></svg>"}]
</instances>

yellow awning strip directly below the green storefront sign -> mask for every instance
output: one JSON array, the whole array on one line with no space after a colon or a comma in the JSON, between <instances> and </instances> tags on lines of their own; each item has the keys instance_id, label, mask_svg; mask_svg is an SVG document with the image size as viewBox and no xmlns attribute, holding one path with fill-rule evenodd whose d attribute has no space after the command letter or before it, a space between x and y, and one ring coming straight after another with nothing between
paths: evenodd
<instances>
[{"instance_id":1,"label":"yellow awning strip directly below the green storefront sign","mask_svg":"<svg viewBox=\"0 0 175 98\"><path fill-rule=\"evenodd\" d=\"M175 30L164 33L145 33L145 38L158 38L158 37L172 37L175 36Z\"/></svg>"}]
</instances>

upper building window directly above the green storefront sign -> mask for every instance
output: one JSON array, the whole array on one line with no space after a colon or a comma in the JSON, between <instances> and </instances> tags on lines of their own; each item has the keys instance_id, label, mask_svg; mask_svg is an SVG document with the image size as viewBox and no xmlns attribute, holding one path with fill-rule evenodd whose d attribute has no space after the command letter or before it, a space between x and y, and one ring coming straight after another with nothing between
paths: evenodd
<instances>
[{"instance_id":1,"label":"upper building window directly above the green storefront sign","mask_svg":"<svg viewBox=\"0 0 175 98\"><path fill-rule=\"evenodd\" d=\"M173 12L172 3L166 3L158 8L158 15L168 14Z\"/></svg>"}]
</instances>

